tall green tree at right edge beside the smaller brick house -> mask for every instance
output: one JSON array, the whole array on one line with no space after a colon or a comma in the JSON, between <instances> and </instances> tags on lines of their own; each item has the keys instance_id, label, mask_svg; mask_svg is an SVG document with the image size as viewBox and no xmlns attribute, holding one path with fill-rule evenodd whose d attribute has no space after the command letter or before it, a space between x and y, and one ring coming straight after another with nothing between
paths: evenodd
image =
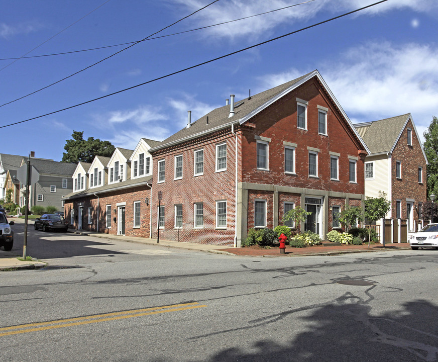
<instances>
[{"instance_id":1,"label":"tall green tree at right edge beside the smaller brick house","mask_svg":"<svg viewBox=\"0 0 438 362\"><path fill-rule=\"evenodd\" d=\"M424 153L429 162L426 168L427 195L438 195L438 118L432 117L432 122L423 136Z\"/></svg>"}]
</instances>

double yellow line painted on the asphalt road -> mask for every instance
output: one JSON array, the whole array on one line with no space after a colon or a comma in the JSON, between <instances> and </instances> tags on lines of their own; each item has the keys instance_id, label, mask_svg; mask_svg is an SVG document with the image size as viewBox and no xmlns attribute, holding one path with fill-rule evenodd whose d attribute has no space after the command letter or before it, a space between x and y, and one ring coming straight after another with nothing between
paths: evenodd
<instances>
[{"instance_id":1,"label":"double yellow line painted on the asphalt road","mask_svg":"<svg viewBox=\"0 0 438 362\"><path fill-rule=\"evenodd\" d=\"M141 316L151 315L151 314L176 312L176 311L181 311L181 310L188 310L188 309L195 309L195 308L202 308L202 307L206 307L206 305L199 305L198 303L175 304L175 305L162 306L162 307L156 307L156 308L144 308L144 309L122 311L122 312L96 314L96 315L90 315L90 316L86 316L86 317L59 319L59 320L54 320L54 321L49 321L49 322L22 324L22 325L17 325L17 326L0 328L0 330L10 330L9 332L0 333L0 337L6 336L6 335L12 335L12 334L36 332L36 331L47 330L47 329L63 328L63 327L91 324L91 323L97 323L97 322L118 320L118 319L141 317ZM74 322L74 321L77 321L77 322ZM73 322L73 323L65 323L65 322ZM57 324L57 323L64 323L64 324ZM43 327L23 329L23 328L35 327L35 326L43 326ZM15 330L13 330L13 329L15 329ZM17 330L17 329L20 329L20 330Z\"/></svg>"}]
</instances>

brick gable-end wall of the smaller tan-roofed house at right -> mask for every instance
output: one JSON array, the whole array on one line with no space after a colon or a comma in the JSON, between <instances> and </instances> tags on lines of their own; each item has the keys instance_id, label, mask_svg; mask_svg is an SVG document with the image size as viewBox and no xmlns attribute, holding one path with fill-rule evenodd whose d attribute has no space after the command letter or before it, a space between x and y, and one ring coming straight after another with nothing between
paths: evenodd
<instances>
[{"instance_id":1,"label":"brick gable-end wall of the smaller tan-roofed house at right","mask_svg":"<svg viewBox=\"0 0 438 362\"><path fill-rule=\"evenodd\" d=\"M412 146L407 144L407 128L412 130ZM401 161L401 179L396 178L396 161ZM423 168L423 183L418 183L418 167ZM420 141L414 132L411 120L408 121L401 134L391 158L392 172L392 217L396 217L396 200L401 200L401 218L406 219L406 198L414 199L414 208L418 202L426 201L426 161L421 151ZM418 220L418 213L414 211L414 220Z\"/></svg>"}]
</instances>

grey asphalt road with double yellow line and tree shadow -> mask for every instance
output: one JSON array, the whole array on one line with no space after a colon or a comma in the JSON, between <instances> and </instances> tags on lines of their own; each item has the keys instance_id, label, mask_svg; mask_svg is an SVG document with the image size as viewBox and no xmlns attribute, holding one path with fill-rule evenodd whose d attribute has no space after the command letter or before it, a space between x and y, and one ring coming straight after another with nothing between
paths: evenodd
<instances>
[{"instance_id":1,"label":"grey asphalt road with double yellow line and tree shadow","mask_svg":"<svg viewBox=\"0 0 438 362\"><path fill-rule=\"evenodd\" d=\"M2 362L438 359L438 251L254 258L29 231L49 265L0 273Z\"/></svg>"}]
</instances>

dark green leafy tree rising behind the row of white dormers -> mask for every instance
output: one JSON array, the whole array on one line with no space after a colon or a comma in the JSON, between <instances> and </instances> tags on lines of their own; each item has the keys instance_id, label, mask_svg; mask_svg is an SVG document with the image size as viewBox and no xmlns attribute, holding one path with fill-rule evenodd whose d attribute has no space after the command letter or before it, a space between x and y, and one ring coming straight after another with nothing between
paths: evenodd
<instances>
[{"instance_id":1,"label":"dark green leafy tree rising behind the row of white dormers","mask_svg":"<svg viewBox=\"0 0 438 362\"><path fill-rule=\"evenodd\" d=\"M65 140L64 149L67 152L62 154L62 162L91 163L94 156L111 157L116 147L110 141L101 141L98 138L94 139L94 137L88 137L87 140L84 140L83 133L83 131L73 131L72 139Z\"/></svg>"}]
</instances>

